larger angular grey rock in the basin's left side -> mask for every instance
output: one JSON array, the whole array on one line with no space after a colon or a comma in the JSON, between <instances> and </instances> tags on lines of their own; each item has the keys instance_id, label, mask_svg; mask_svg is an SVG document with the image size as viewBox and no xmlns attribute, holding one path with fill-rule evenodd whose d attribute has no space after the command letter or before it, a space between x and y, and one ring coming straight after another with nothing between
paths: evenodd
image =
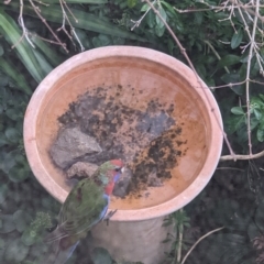
<instances>
[{"instance_id":1,"label":"larger angular grey rock in the basin's left side","mask_svg":"<svg viewBox=\"0 0 264 264\"><path fill-rule=\"evenodd\" d=\"M51 156L58 167L66 168L78 157L101 151L98 142L82 133L79 128L67 128L58 132L58 136L51 147Z\"/></svg>"}]
</instances>

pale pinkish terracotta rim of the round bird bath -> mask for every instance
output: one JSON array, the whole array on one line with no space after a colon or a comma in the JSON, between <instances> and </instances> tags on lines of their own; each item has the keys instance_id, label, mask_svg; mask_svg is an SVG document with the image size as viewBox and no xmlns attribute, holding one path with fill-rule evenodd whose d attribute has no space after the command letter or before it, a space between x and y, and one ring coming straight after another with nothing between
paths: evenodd
<instances>
[{"instance_id":1,"label":"pale pinkish terracotta rim of the round bird bath","mask_svg":"<svg viewBox=\"0 0 264 264\"><path fill-rule=\"evenodd\" d=\"M163 217L186 206L206 187L217 167L222 148L221 114L211 91L202 82L202 80L199 80L200 82L198 81L196 75L189 67L172 56L144 47L108 46L80 53L61 64L38 85L28 106L24 118L24 144L26 156L37 180L54 198L63 202L68 193L48 174L42 163L41 153L37 148L36 127L40 107L42 106L48 90L52 89L54 84L56 84L59 79L64 78L67 73L74 72L74 69L79 67L81 64L116 56L138 57L139 59L146 59L155 64L169 67L177 74L182 75L182 77L187 80L190 86L199 87L200 84L204 86L202 89L194 89L194 92L196 92L204 102L210 122L208 128L210 128L211 131L209 132L210 139L208 141L209 147L207 160L199 172L199 176L196 177L196 179L175 198L148 208L138 210L118 210L111 220L140 221Z\"/></svg>"}]
</instances>

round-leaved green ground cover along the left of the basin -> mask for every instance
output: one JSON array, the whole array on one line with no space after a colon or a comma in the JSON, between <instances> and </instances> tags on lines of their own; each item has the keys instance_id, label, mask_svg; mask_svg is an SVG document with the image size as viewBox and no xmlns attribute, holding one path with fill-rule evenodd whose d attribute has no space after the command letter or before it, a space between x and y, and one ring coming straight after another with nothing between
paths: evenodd
<instances>
[{"instance_id":1,"label":"round-leaved green ground cover along the left of the basin","mask_svg":"<svg viewBox=\"0 0 264 264\"><path fill-rule=\"evenodd\" d=\"M0 249L0 262L7 264L30 263L33 252L43 254L45 246L38 249L45 228L51 227L50 215L35 211L58 211L57 202L46 194L40 185L29 180L31 170L23 147L23 116L29 101L28 91L18 87L12 77L0 73L0 206L4 213L0 215L0 233L8 235ZM24 92L22 92L22 90ZM18 183L21 183L18 190ZM34 189L36 193L34 193ZM33 196L35 196L33 198ZM33 199L32 199L33 198ZM18 208L20 205L20 208ZM40 263L40 262L32 262Z\"/></svg>"}]
</instances>

